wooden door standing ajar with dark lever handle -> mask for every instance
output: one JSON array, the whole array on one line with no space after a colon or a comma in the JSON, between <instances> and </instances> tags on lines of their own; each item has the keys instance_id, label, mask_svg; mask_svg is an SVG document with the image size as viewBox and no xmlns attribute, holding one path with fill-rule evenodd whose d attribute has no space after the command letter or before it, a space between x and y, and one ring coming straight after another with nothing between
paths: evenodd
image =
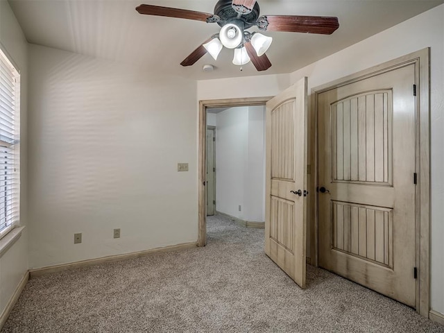
<instances>
[{"instance_id":1,"label":"wooden door standing ajar with dark lever handle","mask_svg":"<svg viewBox=\"0 0 444 333\"><path fill-rule=\"evenodd\" d=\"M307 78L266 103L265 253L305 288Z\"/></svg>"}]
</instances>

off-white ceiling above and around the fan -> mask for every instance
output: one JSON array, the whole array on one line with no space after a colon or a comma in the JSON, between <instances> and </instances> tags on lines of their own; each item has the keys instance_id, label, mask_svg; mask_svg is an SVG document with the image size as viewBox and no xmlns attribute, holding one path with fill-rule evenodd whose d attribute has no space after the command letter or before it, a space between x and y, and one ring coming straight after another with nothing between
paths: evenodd
<instances>
[{"instance_id":1,"label":"off-white ceiling above and around the fan","mask_svg":"<svg viewBox=\"0 0 444 333\"><path fill-rule=\"evenodd\" d=\"M135 10L140 3L146 3L212 13L216 0L9 0L30 43L194 79L289 73L438 6L444 0L258 2L261 15L336 16L340 26L332 35L265 33L273 37L266 53L273 66L258 73L251 63L244 65L243 71L232 65L233 51L228 49L223 49L217 61L206 54L194 66L180 66L191 51L219 32L219 26L140 15ZM205 64L214 65L215 70L203 72Z\"/></svg>"}]
</instances>

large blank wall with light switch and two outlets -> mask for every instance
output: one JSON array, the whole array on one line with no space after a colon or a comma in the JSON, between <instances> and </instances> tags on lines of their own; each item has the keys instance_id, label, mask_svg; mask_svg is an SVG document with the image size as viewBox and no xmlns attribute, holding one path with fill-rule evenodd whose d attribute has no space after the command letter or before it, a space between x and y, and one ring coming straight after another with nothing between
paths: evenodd
<instances>
[{"instance_id":1,"label":"large blank wall with light switch and two outlets","mask_svg":"<svg viewBox=\"0 0 444 333\"><path fill-rule=\"evenodd\" d=\"M29 67L30 268L195 242L196 81L36 45Z\"/></svg>"}]
</instances>

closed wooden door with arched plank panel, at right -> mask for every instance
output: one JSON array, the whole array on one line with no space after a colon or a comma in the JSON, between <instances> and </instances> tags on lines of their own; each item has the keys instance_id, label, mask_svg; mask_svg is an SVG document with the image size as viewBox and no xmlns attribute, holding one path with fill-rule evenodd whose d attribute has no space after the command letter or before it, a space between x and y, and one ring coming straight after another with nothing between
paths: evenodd
<instances>
[{"instance_id":1,"label":"closed wooden door with arched plank panel, at right","mask_svg":"<svg viewBox=\"0 0 444 333\"><path fill-rule=\"evenodd\" d=\"M414 65L406 65L318 94L317 101L319 265L411 307L414 83Z\"/></svg>"}]
</instances>

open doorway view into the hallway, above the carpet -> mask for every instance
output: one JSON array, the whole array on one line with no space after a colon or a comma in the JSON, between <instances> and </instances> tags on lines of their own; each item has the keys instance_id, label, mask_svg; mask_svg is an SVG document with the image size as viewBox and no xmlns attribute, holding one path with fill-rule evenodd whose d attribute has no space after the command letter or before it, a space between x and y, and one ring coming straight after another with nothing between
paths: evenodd
<instances>
[{"instance_id":1,"label":"open doorway view into the hallway, above the carpet","mask_svg":"<svg viewBox=\"0 0 444 333\"><path fill-rule=\"evenodd\" d=\"M206 138L206 216L264 228L264 105L207 108Z\"/></svg>"}]
</instances>

